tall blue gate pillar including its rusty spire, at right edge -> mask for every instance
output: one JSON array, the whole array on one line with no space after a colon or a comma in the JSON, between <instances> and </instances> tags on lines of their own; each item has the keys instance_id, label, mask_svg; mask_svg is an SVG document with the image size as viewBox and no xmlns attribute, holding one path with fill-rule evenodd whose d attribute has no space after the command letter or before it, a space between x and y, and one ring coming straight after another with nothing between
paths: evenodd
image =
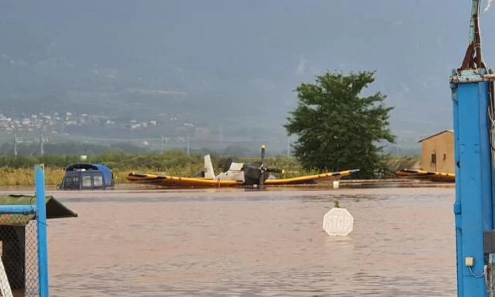
<instances>
[{"instance_id":1,"label":"tall blue gate pillar including its rusty spire, at right edge","mask_svg":"<svg viewBox=\"0 0 495 297\"><path fill-rule=\"evenodd\" d=\"M495 292L495 75L481 54L480 4L480 0L472 0L469 45L460 68L453 69L450 77L458 297L486 297L487 292L492 297Z\"/></svg>"}]
</instances>

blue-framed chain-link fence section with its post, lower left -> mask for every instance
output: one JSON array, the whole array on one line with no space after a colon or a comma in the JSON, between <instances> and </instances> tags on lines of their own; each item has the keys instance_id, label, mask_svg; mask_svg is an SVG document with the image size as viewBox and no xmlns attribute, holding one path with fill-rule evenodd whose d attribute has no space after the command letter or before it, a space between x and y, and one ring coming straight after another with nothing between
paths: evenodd
<instances>
[{"instance_id":1,"label":"blue-framed chain-link fence section with its post, lower left","mask_svg":"<svg viewBox=\"0 0 495 297\"><path fill-rule=\"evenodd\" d=\"M0 205L0 296L48 297L45 171L36 166L36 204Z\"/></svg>"}]
</instances>

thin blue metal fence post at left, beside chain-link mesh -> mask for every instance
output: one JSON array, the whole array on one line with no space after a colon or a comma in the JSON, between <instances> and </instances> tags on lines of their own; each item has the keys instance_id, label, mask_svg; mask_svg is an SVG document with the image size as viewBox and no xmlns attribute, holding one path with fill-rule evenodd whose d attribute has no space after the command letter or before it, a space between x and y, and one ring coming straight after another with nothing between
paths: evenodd
<instances>
[{"instance_id":1,"label":"thin blue metal fence post at left, beside chain-link mesh","mask_svg":"<svg viewBox=\"0 0 495 297\"><path fill-rule=\"evenodd\" d=\"M38 211L38 271L40 297L49 297L48 290L48 236L47 236L47 208L45 194L45 167L43 164L35 166L36 173L36 208Z\"/></svg>"}]
</instances>

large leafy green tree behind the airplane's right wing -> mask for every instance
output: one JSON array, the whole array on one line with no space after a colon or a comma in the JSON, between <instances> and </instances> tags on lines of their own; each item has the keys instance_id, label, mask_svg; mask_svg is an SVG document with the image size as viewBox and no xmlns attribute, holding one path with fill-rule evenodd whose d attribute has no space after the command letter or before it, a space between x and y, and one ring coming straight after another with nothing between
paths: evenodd
<instances>
[{"instance_id":1,"label":"large leafy green tree behind the airplane's right wing","mask_svg":"<svg viewBox=\"0 0 495 297\"><path fill-rule=\"evenodd\" d=\"M326 72L316 76L315 84L297 87L298 105L285 128L297 135L295 155L305 169L360 169L359 178L386 171L379 144L395 141L388 121L393 107L384 106L381 93L360 97L374 74Z\"/></svg>"}]
</instances>

